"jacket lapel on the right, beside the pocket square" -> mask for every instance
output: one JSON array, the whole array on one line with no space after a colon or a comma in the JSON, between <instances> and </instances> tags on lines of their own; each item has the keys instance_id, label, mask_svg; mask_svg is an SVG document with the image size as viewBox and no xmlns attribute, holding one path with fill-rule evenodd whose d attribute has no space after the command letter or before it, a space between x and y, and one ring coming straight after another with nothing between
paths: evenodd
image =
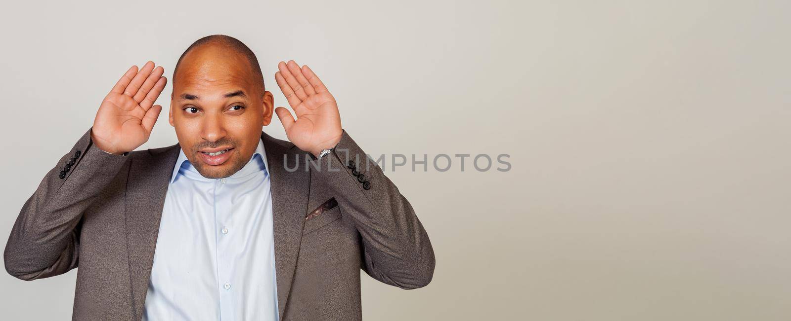
<instances>
[{"instance_id":1,"label":"jacket lapel on the right, beside the pocket square","mask_svg":"<svg viewBox=\"0 0 791 321\"><path fill-rule=\"evenodd\" d=\"M267 151L274 224L274 263L278 283L278 315L283 318L308 212L310 172L305 154L293 144L261 134ZM284 160L285 159L285 160ZM285 161L285 163L284 163ZM288 166L288 170L286 170ZM296 167L296 168L295 168Z\"/></svg>"}]
</instances>

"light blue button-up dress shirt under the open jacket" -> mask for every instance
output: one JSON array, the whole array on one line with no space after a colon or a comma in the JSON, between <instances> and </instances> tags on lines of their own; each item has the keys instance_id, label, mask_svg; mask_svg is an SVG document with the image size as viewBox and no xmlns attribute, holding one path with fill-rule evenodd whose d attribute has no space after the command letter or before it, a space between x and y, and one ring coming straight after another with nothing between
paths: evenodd
<instances>
[{"instance_id":1,"label":"light blue button-up dress shirt under the open jacket","mask_svg":"<svg viewBox=\"0 0 791 321\"><path fill-rule=\"evenodd\" d=\"M154 251L144 320L277 320L267 155L202 177L180 151Z\"/></svg>"}]
</instances>

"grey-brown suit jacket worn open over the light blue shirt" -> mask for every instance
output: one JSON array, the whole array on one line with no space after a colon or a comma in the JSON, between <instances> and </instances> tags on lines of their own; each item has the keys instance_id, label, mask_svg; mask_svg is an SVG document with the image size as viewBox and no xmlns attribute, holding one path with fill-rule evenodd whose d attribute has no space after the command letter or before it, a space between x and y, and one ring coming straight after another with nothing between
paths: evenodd
<instances>
[{"instance_id":1,"label":"grey-brown suit jacket worn open over the light blue shirt","mask_svg":"<svg viewBox=\"0 0 791 321\"><path fill-rule=\"evenodd\" d=\"M266 133L261 139L281 319L361 319L360 270L403 289L431 281L426 230L346 131L322 159ZM142 319L179 150L110 155L93 145L89 129L22 207L6 244L6 271L29 281L79 267L73 319ZM333 198L337 206L311 215Z\"/></svg>"}]
</instances>

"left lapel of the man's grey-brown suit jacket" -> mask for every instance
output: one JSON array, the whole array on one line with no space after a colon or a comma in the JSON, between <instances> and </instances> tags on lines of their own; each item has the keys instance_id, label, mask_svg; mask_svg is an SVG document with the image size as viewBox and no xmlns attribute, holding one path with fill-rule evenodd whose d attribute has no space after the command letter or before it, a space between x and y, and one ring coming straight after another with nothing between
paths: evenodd
<instances>
[{"instance_id":1,"label":"left lapel of the man's grey-brown suit jacket","mask_svg":"<svg viewBox=\"0 0 791 321\"><path fill-rule=\"evenodd\" d=\"M162 208L180 149L179 144L157 148L131 161L125 218L131 297L137 320L142 319Z\"/></svg>"}]
</instances>

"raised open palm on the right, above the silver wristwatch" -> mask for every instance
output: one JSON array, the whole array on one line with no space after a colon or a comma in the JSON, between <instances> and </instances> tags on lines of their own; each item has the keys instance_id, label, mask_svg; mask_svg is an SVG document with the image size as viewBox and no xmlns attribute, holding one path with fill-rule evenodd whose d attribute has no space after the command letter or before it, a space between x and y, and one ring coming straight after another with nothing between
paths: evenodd
<instances>
[{"instance_id":1,"label":"raised open palm on the right, above the silver wristwatch","mask_svg":"<svg viewBox=\"0 0 791 321\"><path fill-rule=\"evenodd\" d=\"M285 107L274 110L286 129L288 139L303 151L313 155L338 144L343 129L338 104L319 77L307 66L297 62L280 62L274 80L286 95L289 106L297 114L294 120Z\"/></svg>"}]
</instances>

